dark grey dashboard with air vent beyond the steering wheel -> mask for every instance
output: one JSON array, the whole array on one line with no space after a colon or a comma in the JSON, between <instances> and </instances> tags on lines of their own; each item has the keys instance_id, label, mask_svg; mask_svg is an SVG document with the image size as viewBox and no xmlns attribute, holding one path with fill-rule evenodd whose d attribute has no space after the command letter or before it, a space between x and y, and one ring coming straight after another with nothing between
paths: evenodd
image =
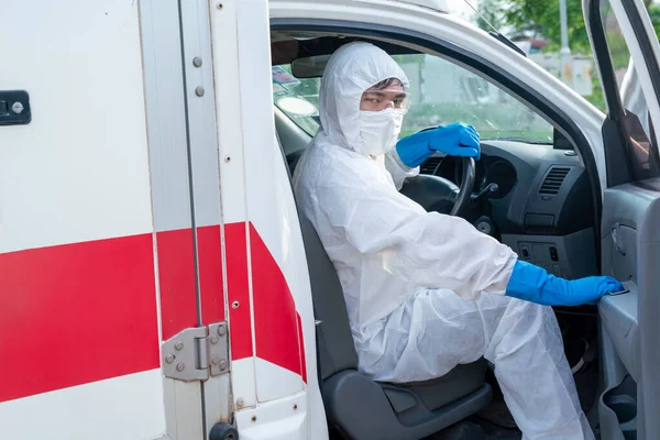
<instances>
[{"instance_id":1,"label":"dark grey dashboard with air vent beyond the steering wheel","mask_svg":"<svg viewBox=\"0 0 660 440\"><path fill-rule=\"evenodd\" d=\"M420 167L461 185L460 157L436 153ZM568 278L596 273L594 202L573 151L520 141L482 141L474 193L497 190L463 217L514 249L521 260Z\"/></svg>"}]
</instances>

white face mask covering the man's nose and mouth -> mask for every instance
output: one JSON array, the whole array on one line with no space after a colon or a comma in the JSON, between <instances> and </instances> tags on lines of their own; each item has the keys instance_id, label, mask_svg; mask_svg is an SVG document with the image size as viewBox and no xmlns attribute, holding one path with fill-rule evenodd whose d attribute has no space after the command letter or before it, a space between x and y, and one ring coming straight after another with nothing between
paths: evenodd
<instances>
[{"instance_id":1,"label":"white face mask covering the man's nose and mouth","mask_svg":"<svg viewBox=\"0 0 660 440\"><path fill-rule=\"evenodd\" d=\"M402 132L404 112L391 108L381 111L360 111L359 122L362 144L358 145L355 151L380 156L396 145Z\"/></svg>"}]
</instances>

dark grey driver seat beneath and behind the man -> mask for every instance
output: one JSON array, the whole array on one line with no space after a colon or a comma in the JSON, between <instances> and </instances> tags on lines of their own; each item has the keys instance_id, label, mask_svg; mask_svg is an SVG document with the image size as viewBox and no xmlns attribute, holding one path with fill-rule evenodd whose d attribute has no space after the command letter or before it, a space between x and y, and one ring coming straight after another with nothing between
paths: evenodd
<instances>
[{"instance_id":1,"label":"dark grey driver seat beneath and behind the man","mask_svg":"<svg viewBox=\"0 0 660 440\"><path fill-rule=\"evenodd\" d=\"M299 154L286 157L289 177ZM360 373L339 277L314 226L301 212L299 218L317 320L319 385L332 428L355 440L421 439L491 402L484 359L421 383L377 383Z\"/></svg>"}]
</instances>

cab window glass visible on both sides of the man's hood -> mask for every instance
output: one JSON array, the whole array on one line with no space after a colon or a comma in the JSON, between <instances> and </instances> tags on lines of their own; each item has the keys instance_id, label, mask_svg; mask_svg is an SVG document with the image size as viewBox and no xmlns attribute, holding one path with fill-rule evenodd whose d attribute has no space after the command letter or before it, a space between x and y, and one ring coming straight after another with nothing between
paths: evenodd
<instances>
[{"instance_id":1,"label":"cab window glass visible on both sides of the man's hood","mask_svg":"<svg viewBox=\"0 0 660 440\"><path fill-rule=\"evenodd\" d=\"M482 140L551 144L552 125L534 110L470 70L426 54L394 55L410 81L410 110L402 138L455 121L472 124ZM273 101L309 135L318 130L320 78L296 78L289 65L273 67Z\"/></svg>"}]
</instances>

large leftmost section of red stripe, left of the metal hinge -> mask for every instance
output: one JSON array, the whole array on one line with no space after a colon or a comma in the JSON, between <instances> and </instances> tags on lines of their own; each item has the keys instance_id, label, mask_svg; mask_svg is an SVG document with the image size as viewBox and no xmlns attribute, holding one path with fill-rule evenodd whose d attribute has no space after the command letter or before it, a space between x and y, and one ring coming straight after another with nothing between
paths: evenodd
<instances>
[{"instance_id":1,"label":"large leftmost section of red stripe, left of the metal hinge","mask_svg":"<svg viewBox=\"0 0 660 440\"><path fill-rule=\"evenodd\" d=\"M160 365L151 234L0 254L0 402Z\"/></svg>"}]
</instances>

